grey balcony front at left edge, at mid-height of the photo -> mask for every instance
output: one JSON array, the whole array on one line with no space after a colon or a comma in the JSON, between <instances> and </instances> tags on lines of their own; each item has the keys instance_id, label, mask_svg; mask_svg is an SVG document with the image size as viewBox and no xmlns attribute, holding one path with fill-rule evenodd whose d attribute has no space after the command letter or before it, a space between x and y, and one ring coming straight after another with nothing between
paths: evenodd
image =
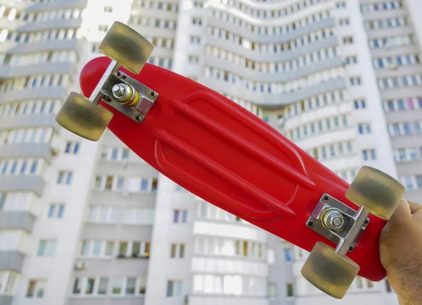
<instances>
[{"instance_id":1,"label":"grey balcony front at left edge, at mid-height of the photo","mask_svg":"<svg viewBox=\"0 0 422 305\"><path fill-rule=\"evenodd\" d=\"M51 162L51 147L49 143L21 143L0 147L0 158L34 157L44 158Z\"/></svg>"}]
</instances>

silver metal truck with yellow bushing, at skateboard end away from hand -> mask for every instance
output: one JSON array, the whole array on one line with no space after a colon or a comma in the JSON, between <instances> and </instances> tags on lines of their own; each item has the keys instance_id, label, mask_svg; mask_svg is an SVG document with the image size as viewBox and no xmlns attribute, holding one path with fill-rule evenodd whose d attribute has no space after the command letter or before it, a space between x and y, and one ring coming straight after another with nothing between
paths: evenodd
<instances>
[{"instance_id":1,"label":"silver metal truck with yellow bushing, at skateboard end away from hand","mask_svg":"<svg viewBox=\"0 0 422 305\"><path fill-rule=\"evenodd\" d=\"M111 61L89 100L98 105L103 99L136 123L142 123L158 99L158 92L119 71L121 66L117 61Z\"/></svg>"}]
</instances>

